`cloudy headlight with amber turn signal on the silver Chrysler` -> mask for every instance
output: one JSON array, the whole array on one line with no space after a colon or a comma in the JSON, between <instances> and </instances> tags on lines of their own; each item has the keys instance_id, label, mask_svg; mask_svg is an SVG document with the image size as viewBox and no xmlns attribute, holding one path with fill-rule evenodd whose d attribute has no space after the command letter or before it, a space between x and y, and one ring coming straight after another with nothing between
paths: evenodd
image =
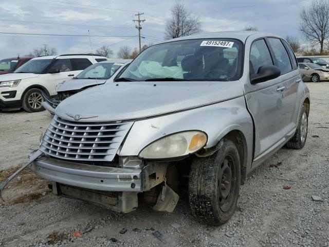
<instances>
[{"instance_id":1,"label":"cloudy headlight with amber turn signal on the silver Chrysler","mask_svg":"<svg viewBox=\"0 0 329 247\"><path fill-rule=\"evenodd\" d=\"M158 160L186 156L203 148L207 140L207 134L202 131L178 132L156 140L145 147L138 156Z\"/></svg>"}]
</instances>

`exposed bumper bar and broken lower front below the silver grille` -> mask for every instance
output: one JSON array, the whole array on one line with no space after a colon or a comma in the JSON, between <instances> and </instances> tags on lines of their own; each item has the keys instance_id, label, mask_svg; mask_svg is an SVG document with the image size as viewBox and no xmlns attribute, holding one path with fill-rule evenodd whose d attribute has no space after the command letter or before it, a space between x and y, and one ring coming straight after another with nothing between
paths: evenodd
<instances>
[{"instance_id":1,"label":"exposed bumper bar and broken lower front below the silver grille","mask_svg":"<svg viewBox=\"0 0 329 247\"><path fill-rule=\"evenodd\" d=\"M111 165L111 166L109 166ZM51 180L55 195L93 202L105 208L129 213L138 207L138 194L157 187L155 210L174 210L178 195L166 183L169 163L143 162L136 156L119 157L107 166L67 162L42 157L31 170ZM150 195L150 192L147 192ZM143 195L139 196L143 198ZM154 201L154 199L153 199Z\"/></svg>"}]
</instances>

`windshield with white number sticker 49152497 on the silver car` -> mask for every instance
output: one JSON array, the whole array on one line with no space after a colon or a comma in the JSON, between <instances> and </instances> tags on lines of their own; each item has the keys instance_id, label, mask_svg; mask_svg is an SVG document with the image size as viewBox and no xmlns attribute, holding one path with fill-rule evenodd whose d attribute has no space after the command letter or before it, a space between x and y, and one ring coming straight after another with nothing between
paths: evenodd
<instances>
[{"instance_id":1,"label":"windshield with white number sticker 49152497 on the silver car","mask_svg":"<svg viewBox=\"0 0 329 247\"><path fill-rule=\"evenodd\" d=\"M159 44L144 50L116 81L232 81L241 77L242 43L197 39Z\"/></svg>"}]
</instances>

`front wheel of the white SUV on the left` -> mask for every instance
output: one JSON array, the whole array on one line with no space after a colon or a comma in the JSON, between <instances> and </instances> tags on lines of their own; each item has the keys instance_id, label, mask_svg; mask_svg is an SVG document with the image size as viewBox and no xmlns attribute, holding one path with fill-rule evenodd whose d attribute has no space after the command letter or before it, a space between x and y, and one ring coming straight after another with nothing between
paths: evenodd
<instances>
[{"instance_id":1,"label":"front wheel of the white SUV on the left","mask_svg":"<svg viewBox=\"0 0 329 247\"><path fill-rule=\"evenodd\" d=\"M42 112L45 110L41 103L44 101L40 89L29 89L23 97L22 107L27 112Z\"/></svg>"}]
</instances>

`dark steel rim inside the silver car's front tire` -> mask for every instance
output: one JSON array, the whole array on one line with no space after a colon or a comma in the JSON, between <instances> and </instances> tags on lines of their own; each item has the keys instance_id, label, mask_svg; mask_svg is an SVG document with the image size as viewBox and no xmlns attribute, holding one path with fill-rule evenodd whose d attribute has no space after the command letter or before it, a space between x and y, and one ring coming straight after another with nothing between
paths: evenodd
<instances>
[{"instance_id":1,"label":"dark steel rim inside the silver car's front tire","mask_svg":"<svg viewBox=\"0 0 329 247\"><path fill-rule=\"evenodd\" d=\"M233 203L235 181L234 181L234 160L230 154L224 157L221 166L218 168L217 195L218 204L222 211L228 211Z\"/></svg>"}]
</instances>

